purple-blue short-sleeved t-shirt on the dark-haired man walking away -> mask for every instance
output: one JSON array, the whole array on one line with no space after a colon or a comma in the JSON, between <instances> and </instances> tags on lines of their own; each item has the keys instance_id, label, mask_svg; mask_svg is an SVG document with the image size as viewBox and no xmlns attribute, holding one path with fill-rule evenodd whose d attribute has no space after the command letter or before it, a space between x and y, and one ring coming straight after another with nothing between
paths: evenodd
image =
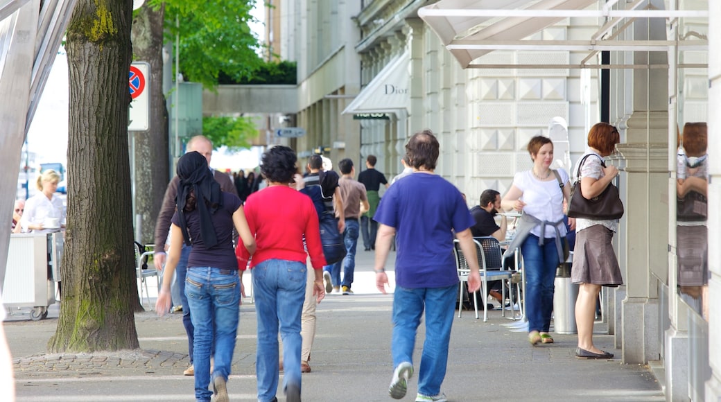
<instances>
[{"instance_id":1,"label":"purple-blue short-sleeved t-shirt on the dark-haired man walking away","mask_svg":"<svg viewBox=\"0 0 721 402\"><path fill-rule=\"evenodd\" d=\"M401 287L456 285L454 233L474 225L456 187L436 174L415 173L386 190L373 219L396 228L396 283Z\"/></svg>"}]
</instances>

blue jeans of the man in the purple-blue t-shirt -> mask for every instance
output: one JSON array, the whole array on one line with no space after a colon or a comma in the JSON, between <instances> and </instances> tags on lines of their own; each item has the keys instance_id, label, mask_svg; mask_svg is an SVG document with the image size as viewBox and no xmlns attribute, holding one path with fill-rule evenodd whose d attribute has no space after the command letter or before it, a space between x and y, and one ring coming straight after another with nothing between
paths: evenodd
<instances>
[{"instance_id":1,"label":"blue jeans of the man in the purple-blue t-shirt","mask_svg":"<svg viewBox=\"0 0 721 402\"><path fill-rule=\"evenodd\" d=\"M456 309L458 285L409 289L393 293L393 367L413 362L415 336L425 306L425 342L418 370L418 393L438 395L446 378L448 342Z\"/></svg>"}]
</instances>

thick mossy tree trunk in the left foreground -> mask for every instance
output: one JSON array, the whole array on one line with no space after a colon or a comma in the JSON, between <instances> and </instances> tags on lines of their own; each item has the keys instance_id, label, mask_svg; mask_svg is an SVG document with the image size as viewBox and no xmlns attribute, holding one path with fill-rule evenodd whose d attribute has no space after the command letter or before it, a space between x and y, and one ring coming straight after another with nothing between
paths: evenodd
<instances>
[{"instance_id":1,"label":"thick mossy tree trunk in the left foreground","mask_svg":"<svg viewBox=\"0 0 721 402\"><path fill-rule=\"evenodd\" d=\"M137 349L128 161L132 2L79 0L68 26L68 228L50 352Z\"/></svg>"}]
</instances>

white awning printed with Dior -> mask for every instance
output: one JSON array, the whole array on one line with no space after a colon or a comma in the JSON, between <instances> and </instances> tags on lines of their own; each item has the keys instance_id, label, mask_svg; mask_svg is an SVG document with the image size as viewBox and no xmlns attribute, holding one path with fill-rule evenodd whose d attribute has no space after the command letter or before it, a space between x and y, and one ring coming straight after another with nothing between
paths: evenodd
<instances>
[{"instance_id":1,"label":"white awning printed with Dior","mask_svg":"<svg viewBox=\"0 0 721 402\"><path fill-rule=\"evenodd\" d=\"M410 99L409 67L410 54L407 51L396 56L361 90L342 114L407 110Z\"/></svg>"}]
</instances>

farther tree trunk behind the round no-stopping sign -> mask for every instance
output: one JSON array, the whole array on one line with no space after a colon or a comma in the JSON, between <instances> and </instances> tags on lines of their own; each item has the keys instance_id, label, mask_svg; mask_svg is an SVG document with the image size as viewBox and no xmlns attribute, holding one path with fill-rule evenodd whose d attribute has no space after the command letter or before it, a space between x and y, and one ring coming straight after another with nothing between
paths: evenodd
<instances>
[{"instance_id":1,"label":"farther tree trunk behind the round no-stopping sign","mask_svg":"<svg viewBox=\"0 0 721 402\"><path fill-rule=\"evenodd\" d=\"M168 112L163 94L164 6L154 10L147 2L133 18L133 54L136 61L150 64L148 89L150 119L146 131L131 133L135 151L135 205L141 216L143 244L153 242L155 222L169 182Z\"/></svg>"}]
</instances>

